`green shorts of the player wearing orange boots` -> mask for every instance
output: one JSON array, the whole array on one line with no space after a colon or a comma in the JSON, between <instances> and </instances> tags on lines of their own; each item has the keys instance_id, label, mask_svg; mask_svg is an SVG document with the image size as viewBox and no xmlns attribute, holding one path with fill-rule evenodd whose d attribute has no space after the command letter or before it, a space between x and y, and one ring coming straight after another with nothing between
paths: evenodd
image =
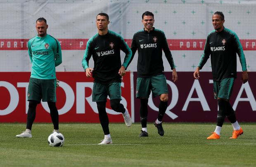
<instances>
[{"instance_id":1,"label":"green shorts of the player wearing orange boots","mask_svg":"<svg viewBox=\"0 0 256 167\"><path fill-rule=\"evenodd\" d=\"M221 81L213 81L214 99L230 99L235 78L225 78Z\"/></svg>"}]
</instances>

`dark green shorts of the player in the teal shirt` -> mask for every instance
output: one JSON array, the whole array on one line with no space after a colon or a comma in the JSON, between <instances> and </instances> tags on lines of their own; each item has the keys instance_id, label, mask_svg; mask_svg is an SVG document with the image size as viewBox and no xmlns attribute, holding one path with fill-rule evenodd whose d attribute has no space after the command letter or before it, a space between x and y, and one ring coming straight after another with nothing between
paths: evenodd
<instances>
[{"instance_id":1,"label":"dark green shorts of the player in the teal shirt","mask_svg":"<svg viewBox=\"0 0 256 167\"><path fill-rule=\"evenodd\" d=\"M42 80L30 78L27 100L56 102L56 79Z\"/></svg>"}]
</instances>

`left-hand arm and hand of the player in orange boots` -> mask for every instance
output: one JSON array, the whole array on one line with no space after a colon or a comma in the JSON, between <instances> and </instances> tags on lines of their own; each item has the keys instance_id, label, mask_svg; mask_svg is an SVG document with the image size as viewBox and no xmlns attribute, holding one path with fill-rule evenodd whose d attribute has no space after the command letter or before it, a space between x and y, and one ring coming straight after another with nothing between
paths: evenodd
<instances>
[{"instance_id":1,"label":"left-hand arm and hand of the player in orange boots","mask_svg":"<svg viewBox=\"0 0 256 167\"><path fill-rule=\"evenodd\" d=\"M199 75L199 70L201 70L204 66L204 64L206 64L206 61L209 59L210 57L210 35L207 36L205 45L204 45L204 53L201 56L201 59L199 61L199 64L196 68L196 70L194 71L194 79L199 79L200 75Z\"/></svg>"}]
</instances>

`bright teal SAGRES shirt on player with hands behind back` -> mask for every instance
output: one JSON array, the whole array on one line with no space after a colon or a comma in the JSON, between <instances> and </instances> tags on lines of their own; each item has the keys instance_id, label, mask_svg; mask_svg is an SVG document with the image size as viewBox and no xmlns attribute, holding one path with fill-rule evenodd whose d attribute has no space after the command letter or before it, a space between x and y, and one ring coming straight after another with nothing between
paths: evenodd
<instances>
[{"instance_id":1,"label":"bright teal SAGRES shirt on player with hands behind back","mask_svg":"<svg viewBox=\"0 0 256 167\"><path fill-rule=\"evenodd\" d=\"M62 63L59 41L51 35L28 40L28 55L32 63L31 78L55 79L55 67Z\"/></svg>"}]
</instances>

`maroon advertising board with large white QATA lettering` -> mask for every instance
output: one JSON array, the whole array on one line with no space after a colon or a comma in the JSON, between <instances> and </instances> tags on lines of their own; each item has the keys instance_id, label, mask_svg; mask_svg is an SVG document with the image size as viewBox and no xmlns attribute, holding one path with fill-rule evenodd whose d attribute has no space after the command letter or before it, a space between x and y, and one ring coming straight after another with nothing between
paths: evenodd
<instances>
[{"instance_id":1,"label":"maroon advertising board with large white QATA lettering","mask_svg":"<svg viewBox=\"0 0 256 167\"><path fill-rule=\"evenodd\" d=\"M136 87L137 73L134 72L133 75ZM178 82L175 83L171 81L171 72L166 72L165 75L169 101L164 122L216 122L218 102L213 97L211 72L200 72L199 80L194 80L193 72L178 72ZM230 104L239 122L255 122L256 72L249 72L246 84L242 84L240 78L241 73L237 73ZM135 122L140 122L140 100L134 99ZM149 97L148 122L156 120L159 102L159 97Z\"/></svg>"}]
</instances>

